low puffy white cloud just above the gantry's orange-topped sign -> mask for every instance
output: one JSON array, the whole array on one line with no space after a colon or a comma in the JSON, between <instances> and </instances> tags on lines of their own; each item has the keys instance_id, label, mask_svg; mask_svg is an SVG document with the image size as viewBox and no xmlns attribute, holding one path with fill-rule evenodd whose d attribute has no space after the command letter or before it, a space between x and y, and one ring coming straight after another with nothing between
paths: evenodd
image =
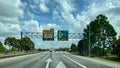
<instances>
[{"instance_id":1,"label":"low puffy white cloud just above the gantry's orange-topped sign","mask_svg":"<svg viewBox=\"0 0 120 68\"><path fill-rule=\"evenodd\" d=\"M57 24L39 24L37 20L24 21L22 29L28 32L40 32L42 30L49 30L50 28L61 29Z\"/></svg>"}]
</instances>

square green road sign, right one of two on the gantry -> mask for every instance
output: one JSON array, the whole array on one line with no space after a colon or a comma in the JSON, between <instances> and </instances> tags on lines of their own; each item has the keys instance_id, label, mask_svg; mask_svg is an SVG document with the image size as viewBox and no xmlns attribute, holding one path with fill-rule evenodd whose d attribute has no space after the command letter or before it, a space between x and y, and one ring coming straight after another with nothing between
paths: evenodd
<instances>
[{"instance_id":1,"label":"square green road sign, right one of two on the gantry","mask_svg":"<svg viewBox=\"0 0 120 68\"><path fill-rule=\"evenodd\" d=\"M59 30L58 31L58 41L68 41L68 31Z\"/></svg>"}]
</instances>

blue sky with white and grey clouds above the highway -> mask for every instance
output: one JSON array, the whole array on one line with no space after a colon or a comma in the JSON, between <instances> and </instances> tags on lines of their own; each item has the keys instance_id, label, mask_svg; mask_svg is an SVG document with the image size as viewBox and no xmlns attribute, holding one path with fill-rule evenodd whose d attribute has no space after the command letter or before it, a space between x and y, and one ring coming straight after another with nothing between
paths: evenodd
<instances>
[{"instance_id":1,"label":"blue sky with white and grey clouds above the highway","mask_svg":"<svg viewBox=\"0 0 120 68\"><path fill-rule=\"evenodd\" d=\"M0 0L0 41L8 36L20 38L21 31L41 32L50 28L82 33L99 14L108 17L119 36L120 0ZM32 40L36 48L70 47L78 42Z\"/></svg>"}]
</instances>

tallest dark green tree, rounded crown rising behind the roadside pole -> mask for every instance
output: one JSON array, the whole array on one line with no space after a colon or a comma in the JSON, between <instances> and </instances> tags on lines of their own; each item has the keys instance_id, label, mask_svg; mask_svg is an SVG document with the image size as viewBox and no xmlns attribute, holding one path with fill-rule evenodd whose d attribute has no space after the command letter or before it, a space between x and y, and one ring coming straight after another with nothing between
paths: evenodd
<instances>
[{"instance_id":1,"label":"tallest dark green tree, rounded crown rising behind the roadside pole","mask_svg":"<svg viewBox=\"0 0 120 68\"><path fill-rule=\"evenodd\" d=\"M105 56L112 48L113 40L116 38L116 32L113 26L107 20L105 15L98 15L94 21L84 29L83 39L93 55ZM107 50L107 51L106 51Z\"/></svg>"}]
</instances>

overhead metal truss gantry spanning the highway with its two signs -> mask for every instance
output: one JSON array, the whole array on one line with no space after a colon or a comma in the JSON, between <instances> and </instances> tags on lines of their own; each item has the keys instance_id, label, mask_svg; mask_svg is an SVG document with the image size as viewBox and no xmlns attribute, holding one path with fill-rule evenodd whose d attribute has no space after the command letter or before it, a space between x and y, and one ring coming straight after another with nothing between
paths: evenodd
<instances>
[{"instance_id":1,"label":"overhead metal truss gantry spanning the highway with its two signs","mask_svg":"<svg viewBox=\"0 0 120 68\"><path fill-rule=\"evenodd\" d=\"M43 41L68 41L69 39L81 39L81 33L69 33L68 30L58 30L54 33L54 29L43 30L42 32L21 32L21 37L27 36L31 38L38 38Z\"/></svg>"}]
</instances>

